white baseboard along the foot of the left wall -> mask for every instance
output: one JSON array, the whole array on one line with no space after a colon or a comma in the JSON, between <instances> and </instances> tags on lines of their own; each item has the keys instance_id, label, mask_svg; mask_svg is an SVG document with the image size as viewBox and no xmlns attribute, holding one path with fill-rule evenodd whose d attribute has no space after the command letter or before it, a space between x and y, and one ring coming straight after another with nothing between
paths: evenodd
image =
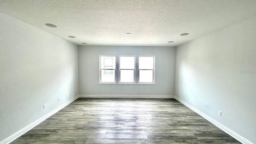
<instances>
[{"instance_id":1,"label":"white baseboard along the foot of the left wall","mask_svg":"<svg viewBox=\"0 0 256 144\"><path fill-rule=\"evenodd\" d=\"M71 102L74 102L74 100L78 99L79 95L77 95L76 97L72 98L71 100L69 100L68 102L65 102L64 104L62 104L61 106L59 106L58 108L55 108L54 110L52 110L51 112L49 112L48 114L42 116L41 118L39 118L38 120L32 122L31 124L29 124L28 126L22 128L21 130L19 130L18 132L12 134L11 136L9 136L8 138L6 138L5 140L3 140L2 142L0 142L0 144L9 144L10 142L14 141L16 138L22 136L22 134L25 134L26 132L28 132L29 130L31 130L32 128L34 128L35 126L37 126L38 124L40 124L41 122L43 122L44 120L46 120L47 118L49 118L50 116L52 116L53 114L55 114L56 112L58 112L59 110L61 110L62 108L64 108L65 106L67 106L68 104L70 104Z\"/></svg>"}]
</instances>

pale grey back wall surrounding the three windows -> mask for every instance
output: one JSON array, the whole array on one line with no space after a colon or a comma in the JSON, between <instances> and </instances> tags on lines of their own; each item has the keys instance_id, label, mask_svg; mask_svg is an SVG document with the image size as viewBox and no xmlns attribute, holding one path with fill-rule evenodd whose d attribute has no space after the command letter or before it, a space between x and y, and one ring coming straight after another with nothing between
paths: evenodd
<instances>
[{"instance_id":1,"label":"pale grey back wall surrounding the three windows","mask_svg":"<svg viewBox=\"0 0 256 144\"><path fill-rule=\"evenodd\" d=\"M156 56L155 84L138 84L138 69L136 84L99 84L99 55L116 55L117 62L119 55L132 55L136 56L136 63L140 55ZM78 46L79 94L173 96L175 59L175 47Z\"/></svg>"}]
</instances>

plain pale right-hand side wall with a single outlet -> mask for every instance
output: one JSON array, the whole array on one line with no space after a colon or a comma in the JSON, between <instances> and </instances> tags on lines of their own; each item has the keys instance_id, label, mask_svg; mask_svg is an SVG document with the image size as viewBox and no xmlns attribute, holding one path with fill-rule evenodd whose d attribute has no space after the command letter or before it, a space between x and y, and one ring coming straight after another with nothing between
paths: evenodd
<instances>
[{"instance_id":1,"label":"plain pale right-hand side wall with a single outlet","mask_svg":"<svg viewBox=\"0 0 256 144\"><path fill-rule=\"evenodd\" d=\"M178 46L175 95L256 143L256 17Z\"/></svg>"}]
</instances>

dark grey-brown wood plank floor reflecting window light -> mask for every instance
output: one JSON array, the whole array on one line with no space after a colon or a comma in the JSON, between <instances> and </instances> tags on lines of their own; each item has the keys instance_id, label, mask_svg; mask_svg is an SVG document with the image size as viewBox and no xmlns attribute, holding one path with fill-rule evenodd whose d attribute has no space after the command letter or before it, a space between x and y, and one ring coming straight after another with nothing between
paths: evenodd
<instances>
[{"instance_id":1,"label":"dark grey-brown wood plank floor reflecting window light","mask_svg":"<svg viewBox=\"0 0 256 144\"><path fill-rule=\"evenodd\" d=\"M175 99L78 98L11 144L240 144Z\"/></svg>"}]
</instances>

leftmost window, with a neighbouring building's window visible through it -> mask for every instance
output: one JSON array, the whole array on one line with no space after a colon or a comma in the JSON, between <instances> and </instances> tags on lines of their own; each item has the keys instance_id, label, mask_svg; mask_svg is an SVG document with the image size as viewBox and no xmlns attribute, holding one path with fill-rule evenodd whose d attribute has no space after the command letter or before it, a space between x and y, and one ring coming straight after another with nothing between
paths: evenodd
<instances>
[{"instance_id":1,"label":"leftmost window, with a neighbouring building's window visible through it","mask_svg":"<svg viewBox=\"0 0 256 144\"><path fill-rule=\"evenodd\" d=\"M100 56L100 83L115 83L116 56Z\"/></svg>"}]
</instances>

